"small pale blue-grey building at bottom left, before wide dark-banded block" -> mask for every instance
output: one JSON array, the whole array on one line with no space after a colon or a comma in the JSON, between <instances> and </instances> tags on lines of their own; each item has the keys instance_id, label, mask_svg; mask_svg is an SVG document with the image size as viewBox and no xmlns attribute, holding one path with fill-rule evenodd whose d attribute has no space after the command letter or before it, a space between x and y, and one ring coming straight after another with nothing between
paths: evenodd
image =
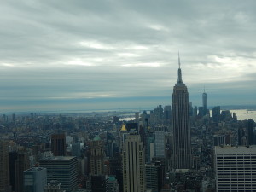
<instances>
[{"instance_id":1,"label":"small pale blue-grey building at bottom left, before wide dark-banded block","mask_svg":"<svg viewBox=\"0 0 256 192\"><path fill-rule=\"evenodd\" d=\"M24 171L24 191L44 192L47 184L46 169L43 167L32 167Z\"/></svg>"}]
</instances>

